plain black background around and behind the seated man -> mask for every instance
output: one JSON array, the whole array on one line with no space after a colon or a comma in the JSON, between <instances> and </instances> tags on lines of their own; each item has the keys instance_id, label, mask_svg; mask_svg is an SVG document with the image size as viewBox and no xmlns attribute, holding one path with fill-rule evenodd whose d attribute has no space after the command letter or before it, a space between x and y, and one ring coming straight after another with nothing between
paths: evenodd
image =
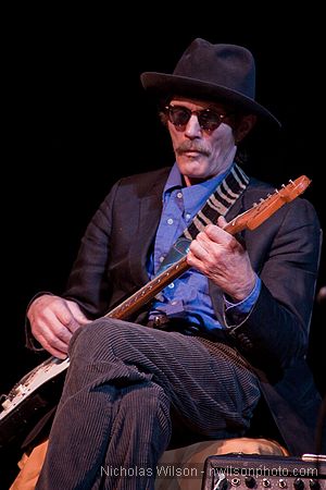
<instances>
[{"instance_id":1,"label":"plain black background around and behind the seated man","mask_svg":"<svg viewBox=\"0 0 326 490\"><path fill-rule=\"evenodd\" d=\"M42 359L24 346L26 306L38 291L62 291L112 183L172 163L139 75L172 72L193 38L252 50L256 98L283 122L280 134L260 136L255 176L278 186L306 174L305 197L326 228L321 12L296 8L286 15L275 3L253 12L208 3L191 11L184 4L181 13L167 4L120 8L113 14L87 5L25 7L4 16L2 393ZM326 284L325 254L318 289ZM323 393L325 317L316 304L309 359Z\"/></svg>"}]
</instances>

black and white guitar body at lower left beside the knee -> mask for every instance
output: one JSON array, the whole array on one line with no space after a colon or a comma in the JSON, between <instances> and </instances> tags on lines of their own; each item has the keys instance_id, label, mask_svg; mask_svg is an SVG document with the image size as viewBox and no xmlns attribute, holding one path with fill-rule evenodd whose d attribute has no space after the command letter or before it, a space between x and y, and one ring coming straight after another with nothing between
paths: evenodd
<instances>
[{"instance_id":1,"label":"black and white guitar body at lower left beside the knee","mask_svg":"<svg viewBox=\"0 0 326 490\"><path fill-rule=\"evenodd\" d=\"M14 385L0 407L0 449L21 444L35 425L58 404L68 365L68 358L50 357Z\"/></svg>"}]
</instances>

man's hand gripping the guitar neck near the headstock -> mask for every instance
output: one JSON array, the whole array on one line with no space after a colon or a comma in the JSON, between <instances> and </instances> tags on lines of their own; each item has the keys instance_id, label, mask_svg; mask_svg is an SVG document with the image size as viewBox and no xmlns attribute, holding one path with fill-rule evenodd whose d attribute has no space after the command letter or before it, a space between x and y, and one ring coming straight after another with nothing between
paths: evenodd
<instances>
[{"instance_id":1,"label":"man's hand gripping the guitar neck near the headstock","mask_svg":"<svg viewBox=\"0 0 326 490\"><path fill-rule=\"evenodd\" d=\"M218 226L209 224L200 232L190 244L187 262L211 279L225 294L241 302L253 290L255 273L247 250L223 230L226 224L225 219L220 217Z\"/></svg>"}]
</instances>

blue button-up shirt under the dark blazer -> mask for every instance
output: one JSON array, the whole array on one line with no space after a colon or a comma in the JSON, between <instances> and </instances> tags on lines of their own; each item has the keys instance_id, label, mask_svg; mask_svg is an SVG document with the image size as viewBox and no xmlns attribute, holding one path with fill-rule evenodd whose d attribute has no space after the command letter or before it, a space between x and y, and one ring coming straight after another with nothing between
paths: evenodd
<instances>
[{"instance_id":1,"label":"blue button-up shirt under the dark blazer","mask_svg":"<svg viewBox=\"0 0 326 490\"><path fill-rule=\"evenodd\" d=\"M156 232L154 252L148 261L151 279L160 272L160 266L171 247L227 173L185 187L177 164L173 166L163 191L163 211ZM231 314L233 323L240 323L246 318L258 298L260 286L258 279L251 294L240 303L233 304L225 299L228 318ZM156 296L150 318L162 313L170 318L183 318L192 324L198 324L201 330L210 331L210 333L222 328L214 314L209 294L209 281L205 275L193 268L184 272L180 278L174 280Z\"/></svg>"}]
</instances>

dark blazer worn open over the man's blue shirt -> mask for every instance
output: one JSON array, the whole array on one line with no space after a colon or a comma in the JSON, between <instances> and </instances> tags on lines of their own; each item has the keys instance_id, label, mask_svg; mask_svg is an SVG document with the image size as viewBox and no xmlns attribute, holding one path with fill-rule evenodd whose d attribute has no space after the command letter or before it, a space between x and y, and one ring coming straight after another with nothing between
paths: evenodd
<instances>
[{"instance_id":1,"label":"dark blazer worn open over the man's blue shirt","mask_svg":"<svg viewBox=\"0 0 326 490\"><path fill-rule=\"evenodd\" d=\"M148 282L146 258L159 224L168 171L122 179L88 225L65 292L88 316L104 315ZM227 220L273 191L251 179ZM297 198L258 229L242 232L242 240L263 285L246 321L225 330L225 338L259 373L290 452L314 452L321 400L305 353L321 249L318 219L308 200ZM223 293L210 283L210 294L225 326Z\"/></svg>"}]
</instances>

